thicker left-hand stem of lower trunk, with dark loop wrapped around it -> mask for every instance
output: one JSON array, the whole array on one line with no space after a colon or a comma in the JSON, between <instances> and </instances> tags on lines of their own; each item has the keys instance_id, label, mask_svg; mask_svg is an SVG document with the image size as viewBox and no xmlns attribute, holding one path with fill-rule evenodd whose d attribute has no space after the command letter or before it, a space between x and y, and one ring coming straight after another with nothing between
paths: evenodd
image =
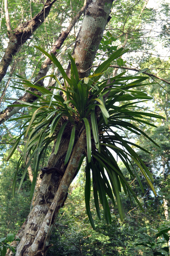
<instances>
[{"instance_id":1,"label":"thicker left-hand stem of lower trunk, with dark loop wrapped around it","mask_svg":"<svg viewBox=\"0 0 170 256\"><path fill-rule=\"evenodd\" d=\"M66 166L64 166L64 159L69 146L68 137L62 138L61 145L62 147L55 158L53 158L54 154L52 154L52 157L48 161L47 167L50 168L56 166L64 172L66 169ZM55 146L53 147L53 151L54 148ZM57 172L44 175L39 188L39 192L37 194L36 202L34 203L34 207L28 216L28 223L24 232L24 236L22 237L20 245L17 249L18 252L16 255L26 255L26 253L28 253L28 255L36 255L35 252L32 252L33 249L31 248L30 252L28 252L29 247L31 247L32 243L34 242L39 228L41 227L49 207L53 202L61 178L62 177ZM42 243L43 240L39 244L39 250L40 248L43 248Z\"/></svg>"}]
</instances>

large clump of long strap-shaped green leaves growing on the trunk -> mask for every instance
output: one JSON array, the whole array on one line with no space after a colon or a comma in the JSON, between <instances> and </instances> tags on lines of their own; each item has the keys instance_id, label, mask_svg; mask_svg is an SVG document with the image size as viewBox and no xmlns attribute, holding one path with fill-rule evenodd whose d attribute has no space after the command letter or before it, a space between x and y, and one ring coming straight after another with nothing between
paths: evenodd
<instances>
[{"instance_id":1,"label":"large clump of long strap-shaped green leaves growing on the trunk","mask_svg":"<svg viewBox=\"0 0 170 256\"><path fill-rule=\"evenodd\" d=\"M150 119L162 118L151 112L142 112L142 108L140 109L140 107L134 106L136 103L152 99L145 92L133 89L134 87L147 85L148 83L143 83L147 77L138 76L138 73L135 76L124 76L125 72L123 72L116 77L110 78L109 84L108 79L99 81L103 72L109 68L110 63L127 52L127 50L124 50L123 48L120 48L111 54L108 60L101 63L92 75L84 79L79 79L76 64L70 55L71 75L69 78L60 62L53 54L49 55L40 47L36 46L36 48L49 57L60 70L64 80L64 86L61 85L55 75L48 76L53 77L56 80L57 86L51 87L51 89L55 89L55 93L47 88L36 86L36 84L33 84L26 79L22 79L23 82L19 82L23 86L33 87L37 91L40 91L42 96L36 95L38 97L37 103L25 103L20 101L20 105L18 105L35 109L33 115L25 115L21 118L12 119L25 119L26 121L21 127L23 132L17 137L17 140L9 152L7 160L10 159L14 153L21 137L28 136L26 145L23 149L23 154L18 161L13 183L13 194L15 193L17 172L23 159L26 159L29 155L18 191L22 185L30 161L34 159L35 170L31 187L32 197L40 159L43 157L43 154L45 154L47 146L56 139L54 153L57 154L63 132L67 126L70 125L72 131L68 152L65 158L65 164L67 164L74 145L75 131L77 130L77 132L79 132L81 128L85 126L87 138L87 150L85 150L87 159L85 169L85 204L92 227L95 229L90 211L91 171L94 202L99 219L101 219L100 202L103 207L103 218L106 219L107 223L111 223L107 197L112 200L114 205L116 200L120 218L123 219L124 212L120 198L122 188L125 194L129 194L129 197L130 194L132 194L136 202L142 208L110 150L114 151L117 156L120 157L130 175L132 177L136 176L142 192L144 192L142 182L133 168L132 162L134 162L139 167L142 175L156 195L151 183L153 178L131 145L142 149L145 152L148 151L139 145L125 140L124 137L120 136L114 129L115 127L121 130L129 130L138 135L142 134L152 141L150 137L131 122L133 120L140 124L143 123L155 126L150 122ZM141 72L142 71L139 73ZM65 99L61 96L61 91L63 92ZM28 92L34 94L32 91ZM117 104L115 104L117 102L121 102L121 104L117 106ZM132 110L132 106L136 108L136 111ZM96 116L96 113L98 116ZM154 141L152 142L155 143Z\"/></svg>"}]
</instances>

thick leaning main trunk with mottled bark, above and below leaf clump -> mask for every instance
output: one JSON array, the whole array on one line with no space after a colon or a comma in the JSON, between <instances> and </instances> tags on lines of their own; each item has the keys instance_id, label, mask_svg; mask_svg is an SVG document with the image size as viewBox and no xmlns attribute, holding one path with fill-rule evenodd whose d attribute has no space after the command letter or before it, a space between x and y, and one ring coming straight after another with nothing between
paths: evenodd
<instances>
[{"instance_id":1,"label":"thick leaning main trunk with mottled bark, above and below leaf clump","mask_svg":"<svg viewBox=\"0 0 170 256\"><path fill-rule=\"evenodd\" d=\"M113 0L87 1L85 16L73 51L80 77L88 76L90 72L104 28L109 21L112 2ZM71 128L72 125L69 124L62 136L57 155L54 155L54 145L47 165L48 168L57 167L64 175L62 177L55 171L44 175L16 256L45 256L46 254L53 225L60 208L64 205L67 191L86 147L85 127L82 124L81 131L76 132L75 145L69 163L64 165Z\"/></svg>"}]
</instances>

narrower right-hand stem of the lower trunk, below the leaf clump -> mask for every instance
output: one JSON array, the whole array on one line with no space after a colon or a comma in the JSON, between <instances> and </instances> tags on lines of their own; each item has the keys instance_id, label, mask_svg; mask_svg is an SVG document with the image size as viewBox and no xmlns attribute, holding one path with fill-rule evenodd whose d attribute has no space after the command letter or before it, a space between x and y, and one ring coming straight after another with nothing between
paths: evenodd
<instances>
[{"instance_id":1,"label":"narrower right-hand stem of the lower trunk, below the leaf clump","mask_svg":"<svg viewBox=\"0 0 170 256\"><path fill-rule=\"evenodd\" d=\"M26 234L22 238L22 240L24 240L24 243L21 240L22 243L20 243L20 245L17 248L16 256L17 255L31 255L31 256L45 255L46 250L49 248L48 242L49 242L52 228L55 224L55 221L57 219L60 208L64 205L64 202L65 202L65 199L67 196L67 191L69 189L71 181L73 180L73 177L75 175L75 170L77 169L80 158L84 152L85 146L86 146L86 136L85 136L85 130L83 130L83 132L81 133L81 135L80 135L79 139L77 140L77 143L73 149L73 152L72 152L69 164L67 166L67 169L65 171L65 174L62 177L62 179L59 180L59 182L58 182L58 189L57 189L55 195L53 193L52 202L49 202L48 198L46 198L46 200L45 200L46 203L48 204L48 208L47 208L47 205L44 205L45 206L44 209L46 211L47 210L48 211L47 211L46 215L44 216L43 221L42 221L42 216L41 216L41 219L40 218L38 219L38 220L41 220L41 225L39 225L39 228L37 230L34 230L35 238L34 238L33 243L30 245L29 252L27 250L28 242L31 243L31 241L28 241L29 237ZM46 176L49 176L49 175L46 175ZM48 178L48 177L46 177L46 178ZM42 182L43 182L43 180L42 180ZM46 182L45 182L45 186L47 186ZM57 188L57 186L55 186L55 190L56 190L56 188ZM40 189L42 189L42 186L40 186ZM46 191L44 191L44 193L46 194ZM45 194L44 194L44 198L45 198ZM39 197L39 195L38 195L38 197ZM51 198L52 198L52 196L51 196ZM36 214L36 211L40 210L40 208L39 207L37 208L37 205L36 205L36 207L34 207L33 209L34 209L34 211L31 212L29 219L28 219L28 222L30 225L27 226L27 230L25 231L26 233L28 232L28 228L30 228L32 225L35 226L35 224L36 224L36 226L37 226L37 223L33 224L33 218ZM35 218L34 218L34 220L35 220ZM40 222L38 222L38 223L40 223ZM32 227L31 227L31 229L32 229ZM32 236L30 236L30 238L32 238ZM21 247L22 245L24 245L24 246ZM21 251L22 253L18 254L19 251Z\"/></svg>"}]
</instances>

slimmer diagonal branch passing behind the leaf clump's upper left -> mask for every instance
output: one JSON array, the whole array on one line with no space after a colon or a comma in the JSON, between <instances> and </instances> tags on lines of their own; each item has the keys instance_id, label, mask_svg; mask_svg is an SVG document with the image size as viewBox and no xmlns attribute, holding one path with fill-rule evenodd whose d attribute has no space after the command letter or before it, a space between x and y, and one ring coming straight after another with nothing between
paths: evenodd
<instances>
[{"instance_id":1,"label":"slimmer diagonal branch passing behind the leaf clump's upper left","mask_svg":"<svg viewBox=\"0 0 170 256\"><path fill-rule=\"evenodd\" d=\"M71 20L68 28L65 31L62 31L61 34L59 35L57 41L54 43L52 50L49 54L53 53L54 55L57 54L56 50L59 50L64 43L65 39L68 37L69 32L73 28L73 26L76 24L76 22L79 20L80 16L85 10L86 6L86 0L84 1L84 6L81 8L81 10L77 13L77 15ZM49 67L51 65L51 60L49 58L46 58L45 61L41 65L41 69L39 70L34 82L38 81L42 77L46 76ZM37 82L38 85L44 86L43 84L44 79L40 80ZM40 92L37 92L33 88L29 88L28 90L34 91L36 94L40 95ZM0 112L0 124L4 123L4 121L10 117L12 117L14 114L18 113L20 111L21 107L18 107L17 105L20 104L18 100L25 101L25 102L34 102L37 99L35 95L32 95L28 92L26 92L24 95L22 95L19 99L14 101L12 104L16 104L16 107L7 107L4 109L4 111Z\"/></svg>"}]
</instances>

